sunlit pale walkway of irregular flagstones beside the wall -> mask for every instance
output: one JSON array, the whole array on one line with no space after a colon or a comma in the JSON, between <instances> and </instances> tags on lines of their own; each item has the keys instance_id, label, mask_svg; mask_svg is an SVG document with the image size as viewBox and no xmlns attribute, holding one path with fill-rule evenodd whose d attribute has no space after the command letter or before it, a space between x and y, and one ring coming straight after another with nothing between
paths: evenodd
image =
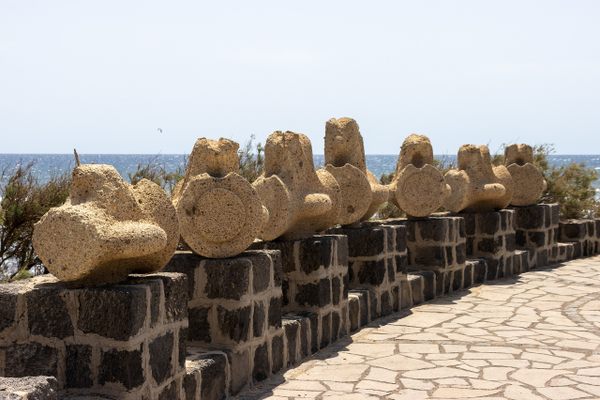
<instances>
[{"instance_id":1,"label":"sunlit pale walkway of irregular flagstones beside the wall","mask_svg":"<svg viewBox=\"0 0 600 400\"><path fill-rule=\"evenodd\" d=\"M248 399L600 399L600 257L396 314ZM382 320L380 320L382 321Z\"/></svg>"}]
</instances>

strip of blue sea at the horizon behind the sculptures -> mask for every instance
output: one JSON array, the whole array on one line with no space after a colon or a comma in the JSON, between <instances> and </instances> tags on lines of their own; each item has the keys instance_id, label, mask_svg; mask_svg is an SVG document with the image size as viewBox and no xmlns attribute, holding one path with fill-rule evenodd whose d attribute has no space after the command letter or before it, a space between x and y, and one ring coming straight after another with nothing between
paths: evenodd
<instances>
[{"instance_id":1,"label":"strip of blue sea at the horizon behind the sculptures","mask_svg":"<svg viewBox=\"0 0 600 400\"><path fill-rule=\"evenodd\" d=\"M438 155L437 159L445 164L453 163L455 155ZM167 171L175 171L184 165L186 155L183 154L81 154L82 163L112 164L124 178L128 173L136 170L138 164L155 162ZM315 155L315 166L323 165L323 155ZM561 166L572 162L584 163L588 167L595 168L600 172L600 155L551 155L549 162L552 165ZM395 155L367 155L367 166L380 177L384 173L393 172L396 168L397 156ZM60 174L73 168L75 160L71 154L0 154L0 174L2 171L10 171L16 165L33 162L33 171L41 181L47 180L54 174ZM595 187L600 188L600 180L596 181Z\"/></svg>"}]
</instances>

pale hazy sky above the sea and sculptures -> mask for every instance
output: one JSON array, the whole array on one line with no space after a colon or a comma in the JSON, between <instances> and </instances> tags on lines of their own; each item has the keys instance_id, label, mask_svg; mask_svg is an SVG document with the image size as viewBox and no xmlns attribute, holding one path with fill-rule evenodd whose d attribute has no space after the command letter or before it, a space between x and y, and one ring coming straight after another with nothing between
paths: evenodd
<instances>
[{"instance_id":1,"label":"pale hazy sky above the sea and sculptures","mask_svg":"<svg viewBox=\"0 0 600 400\"><path fill-rule=\"evenodd\" d=\"M350 116L600 153L600 1L0 0L0 153L188 153ZM157 128L162 128L159 133Z\"/></svg>"}]
</instances>

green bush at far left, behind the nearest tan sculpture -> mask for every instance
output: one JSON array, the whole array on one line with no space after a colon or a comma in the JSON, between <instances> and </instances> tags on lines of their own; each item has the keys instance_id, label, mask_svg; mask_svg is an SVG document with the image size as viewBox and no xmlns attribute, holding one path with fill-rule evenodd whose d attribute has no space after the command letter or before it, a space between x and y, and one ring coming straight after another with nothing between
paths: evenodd
<instances>
[{"instance_id":1,"label":"green bush at far left, behind the nearest tan sculpture","mask_svg":"<svg viewBox=\"0 0 600 400\"><path fill-rule=\"evenodd\" d=\"M2 174L6 184L0 189L0 268L15 262L14 277L26 277L31 267L40 266L32 246L33 225L51 208L65 202L69 195L69 174L52 176L39 183L32 171L33 164L17 166L10 174Z\"/></svg>"}]
</instances>

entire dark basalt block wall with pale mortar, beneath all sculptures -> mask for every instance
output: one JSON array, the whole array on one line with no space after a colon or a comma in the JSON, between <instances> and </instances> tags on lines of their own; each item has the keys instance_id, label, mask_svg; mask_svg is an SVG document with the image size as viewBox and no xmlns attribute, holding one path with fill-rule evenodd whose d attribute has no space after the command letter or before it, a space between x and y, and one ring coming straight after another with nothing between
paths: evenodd
<instances>
[{"instance_id":1,"label":"entire dark basalt block wall with pale mortar, beneath all sculptures","mask_svg":"<svg viewBox=\"0 0 600 400\"><path fill-rule=\"evenodd\" d=\"M39 380L45 399L223 399L380 316L598 252L600 219L558 224L555 209L368 222L221 260L178 252L169 272L120 285L0 285L0 376L55 377ZM21 387L6 379L0 396Z\"/></svg>"}]
</instances>

